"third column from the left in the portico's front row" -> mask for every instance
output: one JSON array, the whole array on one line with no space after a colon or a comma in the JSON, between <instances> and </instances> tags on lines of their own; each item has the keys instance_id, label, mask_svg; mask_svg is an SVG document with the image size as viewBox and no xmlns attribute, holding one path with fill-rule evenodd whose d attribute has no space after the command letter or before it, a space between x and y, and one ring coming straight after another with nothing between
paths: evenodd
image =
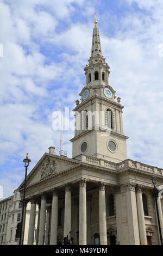
<instances>
[{"instance_id":1,"label":"third column from the left in the portico's front row","mask_svg":"<svg viewBox=\"0 0 163 256\"><path fill-rule=\"evenodd\" d=\"M52 216L51 216L51 245L57 245L58 227L58 191L53 190Z\"/></svg>"}]
</instances>

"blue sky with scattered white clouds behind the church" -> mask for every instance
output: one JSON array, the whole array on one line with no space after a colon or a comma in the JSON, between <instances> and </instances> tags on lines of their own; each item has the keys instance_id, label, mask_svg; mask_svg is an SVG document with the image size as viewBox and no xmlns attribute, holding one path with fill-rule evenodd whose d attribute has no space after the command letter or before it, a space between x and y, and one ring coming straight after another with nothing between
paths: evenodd
<instances>
[{"instance_id":1,"label":"blue sky with scattered white clouds behind the church","mask_svg":"<svg viewBox=\"0 0 163 256\"><path fill-rule=\"evenodd\" d=\"M97 13L109 83L121 97L128 158L163 167L163 1L2 0L0 2L0 186L8 197L53 145L52 113L73 109L85 86ZM2 51L1 51L2 55ZM64 132L71 157L73 131Z\"/></svg>"}]
</instances>

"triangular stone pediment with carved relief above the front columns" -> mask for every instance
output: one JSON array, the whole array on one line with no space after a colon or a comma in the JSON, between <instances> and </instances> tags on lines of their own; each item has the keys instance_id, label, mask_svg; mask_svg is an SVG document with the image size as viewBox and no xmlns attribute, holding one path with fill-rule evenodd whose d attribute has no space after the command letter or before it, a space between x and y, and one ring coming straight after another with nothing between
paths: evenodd
<instances>
[{"instance_id":1,"label":"triangular stone pediment with carved relief above the front columns","mask_svg":"<svg viewBox=\"0 0 163 256\"><path fill-rule=\"evenodd\" d=\"M58 155L52 155L45 153L35 167L27 176L26 186L35 184L36 182L42 181L47 178L51 178L55 174L67 170L73 166L79 164L79 161L68 159L67 157L62 157ZM18 187L18 190L23 188L24 181Z\"/></svg>"}]
</instances>

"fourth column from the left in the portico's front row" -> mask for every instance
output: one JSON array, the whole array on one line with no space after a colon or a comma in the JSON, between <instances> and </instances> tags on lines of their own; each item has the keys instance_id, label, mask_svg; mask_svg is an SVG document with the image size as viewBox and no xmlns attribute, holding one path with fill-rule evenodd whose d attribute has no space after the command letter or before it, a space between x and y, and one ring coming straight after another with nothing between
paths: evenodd
<instances>
[{"instance_id":1,"label":"fourth column from the left in the portico's front row","mask_svg":"<svg viewBox=\"0 0 163 256\"><path fill-rule=\"evenodd\" d=\"M65 221L64 221L64 237L71 231L71 187L70 184L65 185Z\"/></svg>"}]
</instances>

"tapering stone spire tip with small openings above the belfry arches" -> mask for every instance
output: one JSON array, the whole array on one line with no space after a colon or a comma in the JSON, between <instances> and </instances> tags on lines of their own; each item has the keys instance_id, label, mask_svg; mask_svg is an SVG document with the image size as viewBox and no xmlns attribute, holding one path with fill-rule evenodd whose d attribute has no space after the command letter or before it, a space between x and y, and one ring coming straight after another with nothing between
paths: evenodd
<instances>
[{"instance_id":1,"label":"tapering stone spire tip with small openings above the belfry arches","mask_svg":"<svg viewBox=\"0 0 163 256\"><path fill-rule=\"evenodd\" d=\"M97 57L98 55L102 56L102 48L95 14L95 27L93 28L91 57Z\"/></svg>"}]
</instances>

